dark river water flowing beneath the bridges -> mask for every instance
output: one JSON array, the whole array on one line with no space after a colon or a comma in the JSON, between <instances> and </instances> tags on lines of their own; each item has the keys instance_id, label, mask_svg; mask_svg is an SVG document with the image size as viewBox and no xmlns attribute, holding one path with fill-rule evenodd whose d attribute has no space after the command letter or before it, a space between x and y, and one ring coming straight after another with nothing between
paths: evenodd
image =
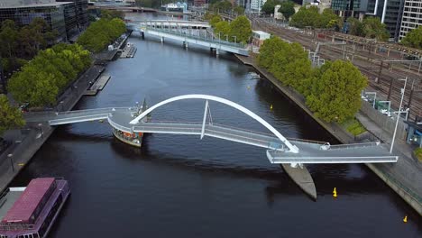
<instances>
[{"instance_id":1,"label":"dark river water flowing beneath the bridges","mask_svg":"<svg viewBox=\"0 0 422 238\"><path fill-rule=\"evenodd\" d=\"M208 94L245 106L287 137L335 143L265 80L251 79L253 69L233 55L216 58L209 49L184 50L181 43L136 34L129 41L136 56L111 62L105 89L75 109ZM164 105L152 120L198 122L204 105ZM234 108L210 108L217 124L269 133ZM422 237L422 219L365 166L307 168L316 201L271 165L262 148L149 134L136 149L117 141L108 124L91 122L60 126L13 186L35 177L69 179L72 194L50 237Z\"/></svg>"}]
</instances>

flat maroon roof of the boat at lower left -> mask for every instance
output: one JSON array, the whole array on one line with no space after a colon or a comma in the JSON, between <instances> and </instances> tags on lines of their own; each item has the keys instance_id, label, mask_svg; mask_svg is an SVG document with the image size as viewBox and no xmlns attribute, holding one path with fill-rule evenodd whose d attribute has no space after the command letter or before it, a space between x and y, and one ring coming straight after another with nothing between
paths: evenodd
<instances>
[{"instance_id":1,"label":"flat maroon roof of the boat at lower left","mask_svg":"<svg viewBox=\"0 0 422 238\"><path fill-rule=\"evenodd\" d=\"M29 222L31 215L40 204L55 178L34 178L25 188L14 206L7 211L2 223Z\"/></svg>"}]
</instances>

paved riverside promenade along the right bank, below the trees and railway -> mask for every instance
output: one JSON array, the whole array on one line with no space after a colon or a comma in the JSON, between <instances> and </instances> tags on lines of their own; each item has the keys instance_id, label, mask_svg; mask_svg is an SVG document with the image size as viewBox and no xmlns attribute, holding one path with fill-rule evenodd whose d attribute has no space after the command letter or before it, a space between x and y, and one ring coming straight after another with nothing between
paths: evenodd
<instances>
[{"instance_id":1,"label":"paved riverside promenade along the right bank, below the trees and railway","mask_svg":"<svg viewBox=\"0 0 422 238\"><path fill-rule=\"evenodd\" d=\"M318 124L333 134L335 138L342 143L354 143L356 141L352 134L347 133L343 127L335 123L326 123L317 118L305 103L305 97L300 95L291 87L283 86L282 83L271 75L266 69L258 66L255 57L243 57L235 55L243 64L252 66L264 78L268 79L274 87L277 87L281 93L290 101L298 105L304 112L311 116ZM391 143L392 136L383 130L378 124L375 124L366 114L358 112L356 118L361 124L375 137L382 142ZM381 178L390 188L392 188L400 197L402 197L409 206L412 206L419 215L422 215L422 166L411 156L412 148L399 138L394 144L394 153L399 155L399 160L394 164L366 164L368 168Z\"/></svg>"}]
</instances>

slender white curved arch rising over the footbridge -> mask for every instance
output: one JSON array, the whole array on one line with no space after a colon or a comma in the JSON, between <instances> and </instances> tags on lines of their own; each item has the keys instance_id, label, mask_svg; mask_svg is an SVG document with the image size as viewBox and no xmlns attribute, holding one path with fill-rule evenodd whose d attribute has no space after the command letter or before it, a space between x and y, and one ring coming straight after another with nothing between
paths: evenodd
<instances>
[{"instance_id":1,"label":"slender white curved arch rising over the footbridge","mask_svg":"<svg viewBox=\"0 0 422 238\"><path fill-rule=\"evenodd\" d=\"M179 101L179 100L187 100L187 99L204 99L204 100L210 100L210 101L215 101L224 105L229 105L231 107L234 107L235 109L243 112L244 114L249 115L250 117L252 117L253 119L255 119L255 121L257 121L258 123L262 124L263 126L265 126L268 130L270 130L271 133L273 133L275 136L277 136L281 142L283 142L288 148L290 152L293 153L298 153L298 147L296 147L296 145L290 143L286 137L284 137L281 133L279 133L279 131L277 131L274 127L272 127L271 124L267 123L264 119L261 118L261 116L254 114L251 110L247 109L246 107L242 106L242 105L238 105L230 100L227 100L225 98L222 97L218 97L218 96L210 96L210 95L182 95L182 96L174 96L171 97L167 100L164 100L156 105L152 105L150 108L148 108L147 110L145 110L142 114L139 114L136 118L134 118L129 124L139 124L140 120L145 117L147 114L150 114L153 110L155 110L156 108L160 107L161 105L167 105L170 104L172 102L175 101Z\"/></svg>"}]
</instances>

